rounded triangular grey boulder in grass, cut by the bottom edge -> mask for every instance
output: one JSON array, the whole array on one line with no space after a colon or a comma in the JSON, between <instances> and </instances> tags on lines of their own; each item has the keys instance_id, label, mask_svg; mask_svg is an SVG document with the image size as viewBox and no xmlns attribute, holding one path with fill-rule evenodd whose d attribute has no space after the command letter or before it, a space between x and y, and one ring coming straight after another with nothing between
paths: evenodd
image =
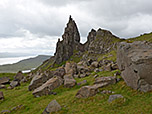
<instances>
[{"instance_id":1,"label":"rounded triangular grey boulder in grass, cut by the bottom edge","mask_svg":"<svg viewBox=\"0 0 152 114\"><path fill-rule=\"evenodd\" d=\"M59 110L61 110L60 104L56 100L53 100L45 108L43 114L50 114L51 112L57 112Z\"/></svg>"}]
</instances>

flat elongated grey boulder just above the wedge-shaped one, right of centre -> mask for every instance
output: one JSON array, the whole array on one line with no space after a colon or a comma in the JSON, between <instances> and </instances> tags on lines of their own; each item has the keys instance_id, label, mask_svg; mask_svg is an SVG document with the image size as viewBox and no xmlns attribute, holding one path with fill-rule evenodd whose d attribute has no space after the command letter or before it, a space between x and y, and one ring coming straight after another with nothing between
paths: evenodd
<instances>
[{"instance_id":1,"label":"flat elongated grey boulder just above the wedge-shaped one, right of centre","mask_svg":"<svg viewBox=\"0 0 152 114\"><path fill-rule=\"evenodd\" d=\"M94 84L100 84L100 83L108 83L109 84L115 84L116 83L116 77L114 76L108 76L108 77L98 77L95 79Z\"/></svg>"}]
</instances>

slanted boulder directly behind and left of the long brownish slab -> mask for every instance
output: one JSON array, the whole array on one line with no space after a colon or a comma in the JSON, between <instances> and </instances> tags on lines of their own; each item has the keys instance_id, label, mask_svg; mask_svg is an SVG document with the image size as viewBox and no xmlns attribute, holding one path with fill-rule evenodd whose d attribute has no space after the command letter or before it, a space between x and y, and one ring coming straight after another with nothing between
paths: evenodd
<instances>
[{"instance_id":1,"label":"slanted boulder directly behind and left of the long brownish slab","mask_svg":"<svg viewBox=\"0 0 152 114\"><path fill-rule=\"evenodd\" d=\"M47 80L48 80L48 77L43 73L35 75L28 87L29 91L32 91L32 90L40 87Z\"/></svg>"}]
</instances>

